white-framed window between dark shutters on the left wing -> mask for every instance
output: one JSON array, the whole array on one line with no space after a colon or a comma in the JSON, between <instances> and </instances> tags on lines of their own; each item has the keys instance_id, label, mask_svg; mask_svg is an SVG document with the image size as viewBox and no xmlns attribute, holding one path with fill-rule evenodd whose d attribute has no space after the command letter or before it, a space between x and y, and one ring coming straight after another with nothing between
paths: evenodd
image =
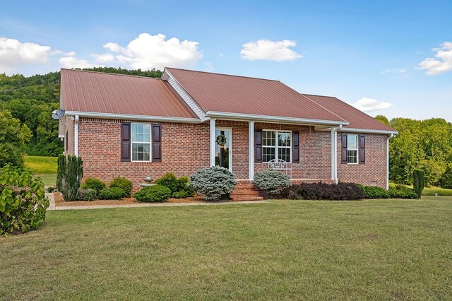
<instances>
[{"instance_id":1,"label":"white-framed window between dark shutters on the left wing","mask_svg":"<svg viewBox=\"0 0 452 301\"><path fill-rule=\"evenodd\" d=\"M132 124L132 161L150 160L150 124Z\"/></svg>"}]
</instances>

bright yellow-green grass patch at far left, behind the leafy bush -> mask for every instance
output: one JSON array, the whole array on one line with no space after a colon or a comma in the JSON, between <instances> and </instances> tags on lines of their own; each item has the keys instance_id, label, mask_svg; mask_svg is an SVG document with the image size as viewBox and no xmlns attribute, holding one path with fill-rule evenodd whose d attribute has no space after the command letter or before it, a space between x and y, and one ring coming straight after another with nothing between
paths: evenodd
<instances>
[{"instance_id":1,"label":"bright yellow-green grass patch at far left, behind the leafy bush","mask_svg":"<svg viewBox=\"0 0 452 301\"><path fill-rule=\"evenodd\" d=\"M52 186L57 181L57 160L57 157L28 155L25 157L25 165L33 175L42 179L44 185Z\"/></svg>"}]
</instances>

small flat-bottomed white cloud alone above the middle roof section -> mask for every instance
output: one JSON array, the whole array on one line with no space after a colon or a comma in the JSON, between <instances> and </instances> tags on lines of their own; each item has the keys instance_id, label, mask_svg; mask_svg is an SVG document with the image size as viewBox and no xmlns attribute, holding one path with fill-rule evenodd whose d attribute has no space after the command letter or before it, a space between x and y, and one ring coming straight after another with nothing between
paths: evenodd
<instances>
[{"instance_id":1,"label":"small flat-bottomed white cloud alone above the middle roof section","mask_svg":"<svg viewBox=\"0 0 452 301\"><path fill-rule=\"evenodd\" d=\"M289 49L295 47L297 43L292 40L270 41L258 40L256 42L249 42L243 45L240 51L242 59L269 60L269 61L292 61L294 59L302 58L302 54Z\"/></svg>"}]
</instances>

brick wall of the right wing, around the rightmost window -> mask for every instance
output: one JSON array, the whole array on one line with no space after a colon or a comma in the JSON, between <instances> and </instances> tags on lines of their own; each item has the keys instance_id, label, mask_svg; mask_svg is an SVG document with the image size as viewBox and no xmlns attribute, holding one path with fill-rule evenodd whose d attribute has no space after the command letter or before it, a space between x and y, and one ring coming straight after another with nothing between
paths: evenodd
<instances>
[{"instance_id":1,"label":"brick wall of the right wing, around the rightmost window","mask_svg":"<svg viewBox=\"0 0 452 301\"><path fill-rule=\"evenodd\" d=\"M366 163L341 164L341 133L338 133L338 179L386 188L386 136L365 134Z\"/></svg>"}]
</instances>

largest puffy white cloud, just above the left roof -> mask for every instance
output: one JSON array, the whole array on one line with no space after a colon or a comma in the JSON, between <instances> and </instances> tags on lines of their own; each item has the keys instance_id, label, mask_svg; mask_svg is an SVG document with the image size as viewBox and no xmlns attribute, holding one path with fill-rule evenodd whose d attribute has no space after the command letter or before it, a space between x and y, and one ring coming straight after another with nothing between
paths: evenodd
<instances>
[{"instance_id":1,"label":"largest puffy white cloud, just above the left roof","mask_svg":"<svg viewBox=\"0 0 452 301\"><path fill-rule=\"evenodd\" d=\"M180 41L176 37L166 40L165 35L142 33L122 47L108 42L106 54L93 54L100 63L117 63L132 69L163 69L165 66L192 67L203 54L198 51L198 42Z\"/></svg>"}]
</instances>

